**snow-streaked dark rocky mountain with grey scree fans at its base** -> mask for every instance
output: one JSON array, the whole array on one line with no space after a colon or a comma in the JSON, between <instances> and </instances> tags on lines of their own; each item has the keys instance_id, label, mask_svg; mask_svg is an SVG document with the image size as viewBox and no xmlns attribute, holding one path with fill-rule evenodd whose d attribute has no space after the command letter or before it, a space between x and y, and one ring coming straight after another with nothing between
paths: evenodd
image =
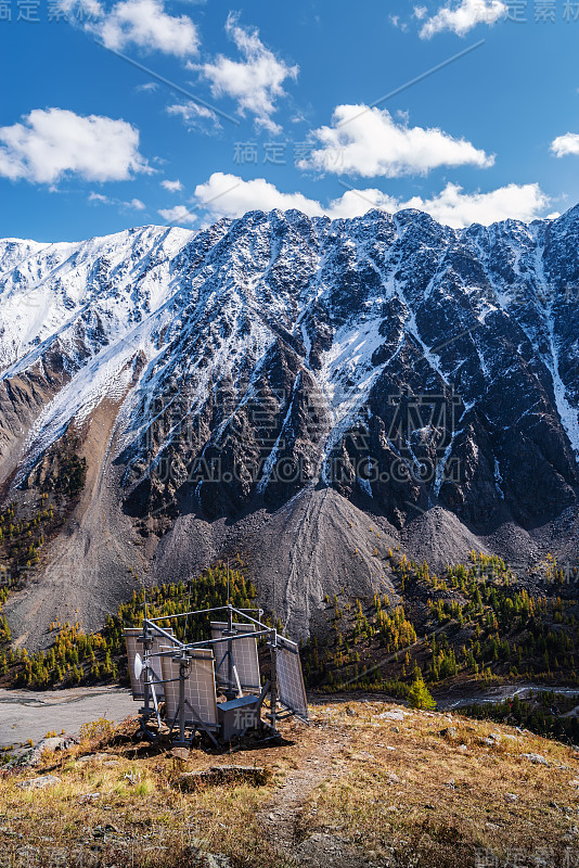
<instances>
[{"instance_id":1,"label":"snow-streaked dark rocky mountain with grey scree fans at its base","mask_svg":"<svg viewBox=\"0 0 579 868\"><path fill-rule=\"evenodd\" d=\"M65 432L88 464L16 633L41 643L73 600L98 624L129 565L186 578L235 550L300 633L325 593L387 585L387 545L575 560L578 240L579 206L0 242L4 496Z\"/></svg>"}]
</instances>

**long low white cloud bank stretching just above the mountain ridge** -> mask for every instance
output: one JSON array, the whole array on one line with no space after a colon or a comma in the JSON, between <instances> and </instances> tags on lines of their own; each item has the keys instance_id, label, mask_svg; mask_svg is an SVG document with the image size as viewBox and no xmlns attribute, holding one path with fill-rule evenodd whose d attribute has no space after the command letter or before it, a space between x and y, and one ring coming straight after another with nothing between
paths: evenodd
<instances>
[{"instance_id":1,"label":"long low white cloud bank stretching just above the mountain ridge","mask_svg":"<svg viewBox=\"0 0 579 868\"><path fill-rule=\"evenodd\" d=\"M507 184L489 193L464 193L462 188L449 183L432 199L412 196L402 201L381 190L348 190L323 206L301 193L282 193L265 178L244 181L235 175L220 171L211 175L206 183L198 184L195 197L197 205L204 207L211 219L242 217L248 210L270 212L273 208L297 208L309 217L327 215L333 219L359 217L372 208L389 213L416 208L454 228L473 222L488 226L507 218L532 220L549 204L548 197L536 183Z\"/></svg>"}]
</instances>

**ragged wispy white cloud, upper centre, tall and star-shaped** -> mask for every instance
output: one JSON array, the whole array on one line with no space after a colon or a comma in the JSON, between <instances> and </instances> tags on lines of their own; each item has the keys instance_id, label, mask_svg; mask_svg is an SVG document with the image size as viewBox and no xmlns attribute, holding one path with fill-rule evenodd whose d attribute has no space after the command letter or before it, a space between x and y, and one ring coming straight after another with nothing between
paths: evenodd
<instances>
[{"instance_id":1,"label":"ragged wispy white cloud, upper centre, tall and star-shaped","mask_svg":"<svg viewBox=\"0 0 579 868\"><path fill-rule=\"evenodd\" d=\"M288 66L275 56L259 39L259 31L242 27L237 16L230 14L226 24L243 61L232 61L220 54L215 63L193 66L210 81L214 97L227 94L237 101L237 112L255 115L256 124L270 132L280 127L271 116L275 112L275 100L285 97L282 87L286 78L297 78L297 66Z\"/></svg>"}]
</instances>

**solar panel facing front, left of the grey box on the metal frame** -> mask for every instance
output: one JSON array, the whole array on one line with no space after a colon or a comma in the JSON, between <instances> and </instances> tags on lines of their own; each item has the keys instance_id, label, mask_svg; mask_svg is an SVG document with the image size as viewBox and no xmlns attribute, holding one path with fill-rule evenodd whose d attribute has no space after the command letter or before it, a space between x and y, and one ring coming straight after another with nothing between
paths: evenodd
<instances>
[{"instance_id":1,"label":"solar panel facing front, left of the grey box on the metal frame","mask_svg":"<svg viewBox=\"0 0 579 868\"><path fill-rule=\"evenodd\" d=\"M160 651L170 651L162 647ZM217 694L215 690L214 653L210 648L197 648L189 652L189 673L185 678L185 723L198 724L200 719L208 726L217 725ZM160 658L163 678L166 681L165 704L167 723L179 720L179 669L178 658ZM177 680L173 680L177 679ZM168 681L168 684L167 684ZM198 717L193 713L194 710Z\"/></svg>"}]
</instances>

